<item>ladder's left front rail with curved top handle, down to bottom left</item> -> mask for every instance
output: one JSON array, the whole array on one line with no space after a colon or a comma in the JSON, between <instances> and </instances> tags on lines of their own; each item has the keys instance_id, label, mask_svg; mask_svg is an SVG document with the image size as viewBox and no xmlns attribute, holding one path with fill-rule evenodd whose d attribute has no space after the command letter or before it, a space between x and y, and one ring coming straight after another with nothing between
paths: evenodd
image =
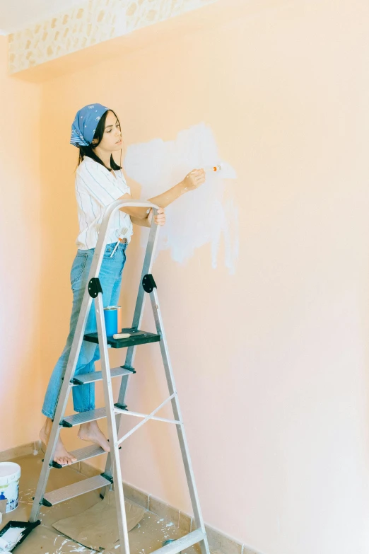
<instances>
[{"instance_id":1,"label":"ladder's left front rail with curved top handle, down to bottom left","mask_svg":"<svg viewBox=\"0 0 369 554\"><path fill-rule=\"evenodd\" d=\"M115 202L112 202L112 204L107 206L107 208L105 209L104 215L102 217L102 223L100 226L98 243L96 244L95 253L93 255L93 261L90 267L90 273L88 275L88 282L86 284L86 289L83 294L83 300L82 300L81 310L78 316L76 331L74 333L73 342L71 344L71 352L69 353L69 359L66 365L66 371L64 374L63 383L61 385L61 389L59 393L57 410L54 415L54 423L52 425L52 430L50 432L49 442L47 444L47 449L45 452L44 463L42 464L40 478L38 480L37 489L35 492L35 500L33 502L33 507L30 514L30 521L32 522L37 520L38 512L40 510L40 502L42 502L42 498L45 494L45 488L47 485L47 480L48 480L49 471L50 471L49 464L52 461L52 458L54 457L54 451L57 446L57 439L59 438L59 434L60 434L59 424L66 410L66 404L68 402L69 392L71 389L70 381L71 379L73 379L74 371L76 370L76 364L77 364L79 352L81 350L83 334L86 328L88 313L90 312L90 306L92 304L92 298L88 292L88 283L90 282L90 279L92 277L98 277L99 275L100 267L102 263L102 256L105 250L105 244L107 240L107 229L109 229L112 214L115 212L115 210L119 209L119 207L152 207L153 209L157 208L156 205L151 204L151 202L138 202L135 200L133 201L116 200Z\"/></svg>"}]
</instances>

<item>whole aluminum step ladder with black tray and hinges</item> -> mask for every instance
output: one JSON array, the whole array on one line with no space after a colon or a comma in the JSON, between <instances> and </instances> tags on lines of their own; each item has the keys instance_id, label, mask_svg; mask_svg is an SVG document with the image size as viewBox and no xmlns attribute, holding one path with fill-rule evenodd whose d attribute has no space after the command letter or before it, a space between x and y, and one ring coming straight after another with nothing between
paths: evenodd
<instances>
[{"instance_id":1,"label":"whole aluminum step ladder with black tray and hinges","mask_svg":"<svg viewBox=\"0 0 369 554\"><path fill-rule=\"evenodd\" d=\"M79 313L78 322L76 325L76 332L74 334L74 340L71 345L71 352L69 354L69 360L66 366L64 380L61 386L57 409L52 425L52 431L49 437L49 444L47 445L40 479L38 481L37 490L35 492L33 507L30 514L30 521L37 521L41 506L50 507L54 504L59 504L59 502L64 502L64 500L69 500L78 495L83 495L85 492L97 490L102 487L104 487L105 490L105 487L111 487L113 485L117 505L119 543L121 548L120 551L122 554L129 554L129 538L127 531L127 517L124 506L119 445L122 444L124 440L130 437L132 433L134 433L137 429L139 429L139 427L144 425L148 420L167 422L175 425L177 429L178 439L180 441L180 449L182 452L182 459L185 466L187 484L189 487L189 495L191 497L192 509L194 512L194 522L197 529L188 533L182 538L177 539L177 541L167 544L162 548L158 548L158 550L155 550L155 552L160 554L176 554L179 553L181 550L194 545L195 543L199 543L201 547L201 554L210 554L204 520L201 516L197 487L194 481L194 473L192 471L192 463L189 457L185 427L182 422L180 403L178 400L177 389L175 388L175 380L173 376L172 365L170 363L168 344L165 338L163 320L160 313L156 283L153 279L153 276L151 275L153 255L155 252L156 243L158 241L158 226L154 223L154 218L148 236L148 244L144 258L144 267L141 274L141 284L136 300L136 308L134 310L132 327L122 329L122 333L129 333L131 336L126 339L115 340L113 337L107 337L105 333L105 321L102 305L102 289L98 277L102 263L102 256L105 252L107 229L109 229L112 214L117 209L122 207L152 208L154 215L157 213L158 210L158 207L154 204L151 204L151 202L138 202L136 200L116 200L115 202L112 202L112 204L110 204L105 210L104 217L102 218L102 224L100 226L98 243L95 248L95 254L93 256L90 273L88 275L88 284L86 285L86 290L83 295L81 311ZM140 330L146 294L149 294L151 299L153 316L156 323L156 334ZM85 335L84 330L86 328L86 321L93 299L95 301L98 333ZM83 340L98 343L100 349L102 370L84 375L77 375L76 377L74 377L78 354L81 350ZM125 405L124 399L127 392L129 377L136 373L133 368L136 346L144 345L148 342L159 342L170 396L150 414L141 414L138 412L131 412L127 410L127 405ZM122 365L121 367L110 369L108 356L109 347L127 348L124 365ZM112 377L122 378L117 403L114 403L112 395ZM71 388L74 386L83 386L83 384L85 383L92 383L95 381L102 381L104 389L105 408L98 408L96 410L90 410L88 412L81 412L74 415L65 416L64 414L66 410L66 404L69 398L69 394L71 393ZM169 420L163 417L156 416L156 413L169 402L172 404L172 411L175 419ZM141 421L135 427L133 427L133 429L124 434L123 437L118 438L120 420L121 417L123 417L124 415L138 417L141 419ZM79 425L84 422L100 420L103 417L107 418L108 438L111 448L111 451L107 456L107 463L104 473L101 473L101 475L95 475L92 478L87 478L78 483L62 487L58 490L53 490L52 492L45 493L47 480L49 478L49 472L52 468L62 467L58 463L53 461L54 451L57 445L57 439L59 438L61 427L73 427L74 425ZM75 463L78 463L78 461L87 460L88 458L93 458L94 456L104 454L104 450L100 446L90 445L75 450L71 452L71 454L76 457Z\"/></svg>"}]
</instances>

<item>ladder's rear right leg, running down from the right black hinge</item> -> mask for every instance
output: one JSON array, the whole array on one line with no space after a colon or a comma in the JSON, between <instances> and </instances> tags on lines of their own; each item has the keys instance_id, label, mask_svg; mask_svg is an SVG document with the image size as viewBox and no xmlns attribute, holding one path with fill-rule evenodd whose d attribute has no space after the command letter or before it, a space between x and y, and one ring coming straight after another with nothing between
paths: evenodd
<instances>
[{"instance_id":1,"label":"ladder's rear right leg, running down from the right black hinge","mask_svg":"<svg viewBox=\"0 0 369 554\"><path fill-rule=\"evenodd\" d=\"M170 362L168 342L165 336L163 318L161 316L158 292L156 288L154 288L153 292L150 293L150 299L151 299L151 306L153 308L153 316L156 323L156 331L158 335L160 335L159 344L160 344L161 354L163 357L165 376L167 377L167 381L168 381L169 393L170 395L175 393L174 398L172 398L173 414L174 414L175 420L179 420L181 422L181 425L176 425L176 428L177 428L178 440L180 442L180 449L182 452L182 459L185 466L187 485L189 487L189 496L191 498L192 509L194 511L194 519L197 524L197 529L201 529L201 531L204 533L204 540L201 541L200 543L201 554L209 554L209 543L206 537L205 524L201 514L199 495L198 495L197 486L194 480L194 471L192 469L191 458L189 456L189 447L187 443L187 437L185 434L185 425L183 424L182 413L180 410L180 402L178 400L178 393L175 387L174 373L172 370L172 364Z\"/></svg>"}]
</instances>

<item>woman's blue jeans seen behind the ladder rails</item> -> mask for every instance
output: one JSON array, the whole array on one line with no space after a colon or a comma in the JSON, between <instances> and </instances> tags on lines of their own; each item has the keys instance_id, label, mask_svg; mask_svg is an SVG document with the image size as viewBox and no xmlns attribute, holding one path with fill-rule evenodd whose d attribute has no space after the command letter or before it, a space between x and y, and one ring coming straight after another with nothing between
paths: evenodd
<instances>
[{"instance_id":1,"label":"woman's blue jeans seen behind the ladder rails","mask_svg":"<svg viewBox=\"0 0 369 554\"><path fill-rule=\"evenodd\" d=\"M122 283L122 271L126 261L127 244L119 243L115 254L110 258L115 243L107 244L105 248L104 258L100 268L100 283L102 287L102 304L106 306L115 306L119 301L120 285ZM76 330L79 312L81 310L83 294L88 281L88 273L93 260L95 248L90 250L77 250L76 258L71 268L71 289L73 291L73 308L71 313L71 323L69 335L66 339L66 345L57 365L52 371L52 376L47 386L42 413L50 419L54 419L57 401L59 398L62 377L68 363L69 352L71 352L71 344ZM95 306L92 304L90 313L86 323L85 333L96 333L96 316ZM78 356L75 375L90 373L95 371L95 362L100 359L100 351L98 345L93 342L82 342L81 352ZM95 408L95 383L86 383L85 385L74 386L73 389L73 404L76 412L86 412Z\"/></svg>"}]
</instances>

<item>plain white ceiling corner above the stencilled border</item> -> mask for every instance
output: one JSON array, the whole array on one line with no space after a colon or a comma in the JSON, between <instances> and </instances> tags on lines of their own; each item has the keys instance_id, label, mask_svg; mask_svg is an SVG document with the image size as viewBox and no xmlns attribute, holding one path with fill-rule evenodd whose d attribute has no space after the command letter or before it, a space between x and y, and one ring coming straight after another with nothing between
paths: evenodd
<instances>
[{"instance_id":1,"label":"plain white ceiling corner above the stencilled border","mask_svg":"<svg viewBox=\"0 0 369 554\"><path fill-rule=\"evenodd\" d=\"M0 0L0 34L24 29L79 4L83 0Z\"/></svg>"}]
</instances>

